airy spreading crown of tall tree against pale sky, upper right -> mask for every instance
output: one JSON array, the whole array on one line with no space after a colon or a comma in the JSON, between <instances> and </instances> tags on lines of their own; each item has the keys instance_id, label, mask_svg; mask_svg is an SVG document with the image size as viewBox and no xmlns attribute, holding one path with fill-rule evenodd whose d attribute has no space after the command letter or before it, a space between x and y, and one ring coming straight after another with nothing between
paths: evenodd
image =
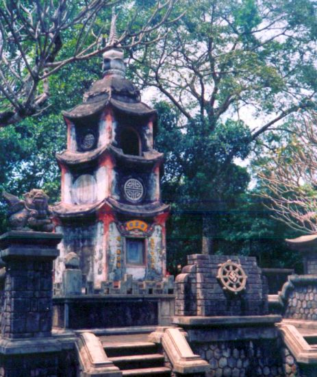
<instances>
[{"instance_id":1,"label":"airy spreading crown of tall tree against pale sky, upper right","mask_svg":"<svg viewBox=\"0 0 317 377\"><path fill-rule=\"evenodd\" d=\"M225 114L240 119L245 108L257 123L264 119L254 140L299 108L315 106L314 1L186 4L165 38L130 50L140 82L161 90L188 121L198 114L205 132L213 132Z\"/></svg>"}]
</instances>

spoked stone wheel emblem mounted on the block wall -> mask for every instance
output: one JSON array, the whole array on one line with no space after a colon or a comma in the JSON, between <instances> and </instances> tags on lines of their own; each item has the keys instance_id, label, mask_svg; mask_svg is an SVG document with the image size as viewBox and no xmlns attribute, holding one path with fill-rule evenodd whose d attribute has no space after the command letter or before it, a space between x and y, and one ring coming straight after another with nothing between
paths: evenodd
<instances>
[{"instance_id":1,"label":"spoked stone wheel emblem mounted on the block wall","mask_svg":"<svg viewBox=\"0 0 317 377\"><path fill-rule=\"evenodd\" d=\"M238 292L245 289L247 278L241 265L232 262L230 259L219 265L217 279L225 291L230 291L237 295Z\"/></svg>"}]
</instances>

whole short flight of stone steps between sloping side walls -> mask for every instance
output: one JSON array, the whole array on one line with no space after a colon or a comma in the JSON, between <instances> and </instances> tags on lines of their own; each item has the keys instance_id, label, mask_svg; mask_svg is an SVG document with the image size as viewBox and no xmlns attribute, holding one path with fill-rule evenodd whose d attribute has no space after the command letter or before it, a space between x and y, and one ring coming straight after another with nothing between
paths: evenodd
<instances>
[{"instance_id":1,"label":"whole short flight of stone steps between sloping side walls","mask_svg":"<svg viewBox=\"0 0 317 377\"><path fill-rule=\"evenodd\" d=\"M107 358L121 370L123 376L170 377L171 370L164 366L164 355L159 346L147 341L147 337L104 337L101 343Z\"/></svg>"}]
</instances>

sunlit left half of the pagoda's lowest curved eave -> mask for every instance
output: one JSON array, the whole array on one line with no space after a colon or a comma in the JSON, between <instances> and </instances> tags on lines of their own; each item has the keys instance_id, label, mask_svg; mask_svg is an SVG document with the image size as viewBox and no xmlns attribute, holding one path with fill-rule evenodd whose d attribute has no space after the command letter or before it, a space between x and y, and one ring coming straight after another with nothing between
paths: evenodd
<instances>
[{"instance_id":1,"label":"sunlit left half of the pagoda's lowest curved eave","mask_svg":"<svg viewBox=\"0 0 317 377\"><path fill-rule=\"evenodd\" d=\"M71 218L71 217L84 217L87 215L93 215L97 210L99 210L103 204L105 204L105 199L94 204L66 204L64 202L59 202L55 206L51 206L51 211L53 215L60 218Z\"/></svg>"}]
</instances>

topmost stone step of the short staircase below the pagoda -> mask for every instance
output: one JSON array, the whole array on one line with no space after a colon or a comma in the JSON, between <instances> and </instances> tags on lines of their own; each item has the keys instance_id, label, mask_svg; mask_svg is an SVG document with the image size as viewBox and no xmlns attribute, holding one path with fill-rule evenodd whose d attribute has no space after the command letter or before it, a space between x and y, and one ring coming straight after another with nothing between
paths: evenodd
<instances>
[{"instance_id":1,"label":"topmost stone step of the short staircase below the pagoda","mask_svg":"<svg viewBox=\"0 0 317 377\"><path fill-rule=\"evenodd\" d=\"M103 349L108 357L157 353L157 345L151 342L107 343L103 341Z\"/></svg>"}]
</instances>

